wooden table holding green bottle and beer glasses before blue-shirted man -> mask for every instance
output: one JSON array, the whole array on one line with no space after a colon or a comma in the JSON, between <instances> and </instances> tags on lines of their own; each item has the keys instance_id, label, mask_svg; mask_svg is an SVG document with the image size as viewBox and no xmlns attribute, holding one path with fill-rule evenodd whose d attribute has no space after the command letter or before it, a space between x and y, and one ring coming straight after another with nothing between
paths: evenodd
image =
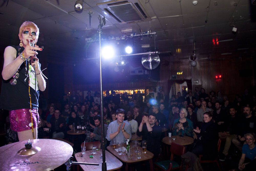
<instances>
[{"instance_id":1,"label":"wooden table holding green bottle and beer glasses before blue-shirted man","mask_svg":"<svg viewBox=\"0 0 256 171\"><path fill-rule=\"evenodd\" d=\"M123 144L123 146L126 146L126 144ZM121 160L122 162L124 162L126 164L125 171L129 170L129 164L134 164L134 163L143 162L143 161L147 161L147 160L149 161L150 170L153 171L153 161L152 161L152 158L154 157L154 154L149 152L149 151L147 151L146 153L142 153L141 154L141 158L138 159L137 155L134 152L134 148L132 148L131 149L131 151L132 151L132 158L128 159L126 154L118 155L118 152L116 152L115 149L113 149L113 146L107 146L107 149L116 158L118 158L119 160ZM142 147L138 147L138 150L142 151Z\"/></svg>"}]
</instances>

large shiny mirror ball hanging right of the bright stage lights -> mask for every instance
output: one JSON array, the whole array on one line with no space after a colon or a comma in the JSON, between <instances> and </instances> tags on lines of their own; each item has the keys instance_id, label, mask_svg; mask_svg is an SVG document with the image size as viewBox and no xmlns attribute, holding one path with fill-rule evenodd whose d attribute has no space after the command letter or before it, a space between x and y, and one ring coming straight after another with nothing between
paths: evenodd
<instances>
[{"instance_id":1,"label":"large shiny mirror ball hanging right of the bright stage lights","mask_svg":"<svg viewBox=\"0 0 256 171\"><path fill-rule=\"evenodd\" d=\"M146 54L142 56L141 63L145 68L152 70L159 65L160 58L157 54Z\"/></svg>"}]
</instances>

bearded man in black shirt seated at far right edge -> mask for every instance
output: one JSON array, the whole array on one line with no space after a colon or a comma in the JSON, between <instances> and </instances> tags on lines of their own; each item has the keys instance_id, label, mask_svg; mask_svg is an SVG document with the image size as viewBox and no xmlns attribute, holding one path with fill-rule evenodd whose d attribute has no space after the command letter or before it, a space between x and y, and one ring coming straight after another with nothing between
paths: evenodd
<instances>
[{"instance_id":1,"label":"bearded man in black shirt seated at far right edge","mask_svg":"<svg viewBox=\"0 0 256 171\"><path fill-rule=\"evenodd\" d=\"M245 142L244 135L247 133L255 133L256 117L252 115L251 108L246 106L243 108L244 116L241 117L238 124L237 139L232 139L232 143L242 152L242 146Z\"/></svg>"}]
</instances>

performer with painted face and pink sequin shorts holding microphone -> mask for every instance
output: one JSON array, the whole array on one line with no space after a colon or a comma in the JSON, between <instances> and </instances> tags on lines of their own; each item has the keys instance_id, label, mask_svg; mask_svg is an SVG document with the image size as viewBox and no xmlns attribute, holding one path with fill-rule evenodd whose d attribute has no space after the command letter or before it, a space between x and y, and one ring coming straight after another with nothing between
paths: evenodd
<instances>
[{"instance_id":1,"label":"performer with painted face and pink sequin shorts holding microphone","mask_svg":"<svg viewBox=\"0 0 256 171\"><path fill-rule=\"evenodd\" d=\"M38 35L39 28L35 23L24 22L19 28L19 46L9 45L4 51L0 108L9 110L10 127L17 131L19 141L37 138L39 90L46 88L36 57L37 51L42 51L35 45Z\"/></svg>"}]
</instances>

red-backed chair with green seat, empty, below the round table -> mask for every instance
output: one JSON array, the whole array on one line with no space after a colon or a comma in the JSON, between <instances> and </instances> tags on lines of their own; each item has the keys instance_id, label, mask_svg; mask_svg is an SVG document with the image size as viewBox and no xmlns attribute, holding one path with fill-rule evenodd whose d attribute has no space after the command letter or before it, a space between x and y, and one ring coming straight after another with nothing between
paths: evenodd
<instances>
[{"instance_id":1,"label":"red-backed chair with green seat, empty, below the round table","mask_svg":"<svg viewBox=\"0 0 256 171\"><path fill-rule=\"evenodd\" d=\"M173 161L173 155L175 154L178 156L182 156L185 153L185 147L183 145L172 143L170 147L170 152L172 153L170 160L155 162L154 165L156 166L156 168L160 170L170 171L170 170L179 169L181 171L182 166L179 165L177 162Z\"/></svg>"}]
</instances>

